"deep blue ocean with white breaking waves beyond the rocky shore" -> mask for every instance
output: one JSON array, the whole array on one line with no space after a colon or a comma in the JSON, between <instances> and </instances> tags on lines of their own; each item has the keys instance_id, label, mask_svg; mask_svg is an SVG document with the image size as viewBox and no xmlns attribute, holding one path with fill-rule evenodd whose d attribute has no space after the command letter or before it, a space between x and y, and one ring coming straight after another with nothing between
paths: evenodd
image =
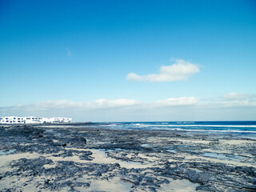
<instances>
[{"instance_id":1,"label":"deep blue ocean with white breaking waves beyond the rocky shore","mask_svg":"<svg viewBox=\"0 0 256 192\"><path fill-rule=\"evenodd\" d=\"M110 122L98 124L110 129L125 130L183 130L215 134L236 134L256 138L256 121L244 122Z\"/></svg>"}]
</instances>

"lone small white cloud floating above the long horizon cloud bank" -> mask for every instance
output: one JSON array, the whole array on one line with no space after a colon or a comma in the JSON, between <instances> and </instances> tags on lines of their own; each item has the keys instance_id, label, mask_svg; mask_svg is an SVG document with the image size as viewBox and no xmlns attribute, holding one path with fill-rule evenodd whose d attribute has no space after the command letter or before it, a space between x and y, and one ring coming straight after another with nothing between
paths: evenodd
<instances>
[{"instance_id":1,"label":"lone small white cloud floating above the long horizon cloud bank","mask_svg":"<svg viewBox=\"0 0 256 192\"><path fill-rule=\"evenodd\" d=\"M183 59L177 59L173 65L161 66L158 74L138 75L130 73L127 74L126 79L129 81L174 82L186 80L199 71L197 65L186 62Z\"/></svg>"}]
</instances>

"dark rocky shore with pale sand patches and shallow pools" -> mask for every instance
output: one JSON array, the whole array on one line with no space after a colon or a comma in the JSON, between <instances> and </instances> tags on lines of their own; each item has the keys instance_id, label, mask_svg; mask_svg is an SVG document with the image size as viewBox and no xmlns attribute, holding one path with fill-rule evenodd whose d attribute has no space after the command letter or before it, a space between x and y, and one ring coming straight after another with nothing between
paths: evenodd
<instances>
[{"instance_id":1,"label":"dark rocky shore with pale sand patches and shallow pools","mask_svg":"<svg viewBox=\"0 0 256 192\"><path fill-rule=\"evenodd\" d=\"M1 126L0 191L256 191L255 147L227 134Z\"/></svg>"}]
</instances>

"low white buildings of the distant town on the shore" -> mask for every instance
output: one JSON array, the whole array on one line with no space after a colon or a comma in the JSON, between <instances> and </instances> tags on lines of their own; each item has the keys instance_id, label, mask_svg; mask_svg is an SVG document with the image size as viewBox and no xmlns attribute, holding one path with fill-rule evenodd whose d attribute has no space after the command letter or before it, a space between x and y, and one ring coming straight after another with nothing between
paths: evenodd
<instances>
[{"instance_id":1,"label":"low white buildings of the distant town on the shore","mask_svg":"<svg viewBox=\"0 0 256 192\"><path fill-rule=\"evenodd\" d=\"M39 118L39 117L1 117L0 124L39 124L72 122L72 118Z\"/></svg>"}]
</instances>

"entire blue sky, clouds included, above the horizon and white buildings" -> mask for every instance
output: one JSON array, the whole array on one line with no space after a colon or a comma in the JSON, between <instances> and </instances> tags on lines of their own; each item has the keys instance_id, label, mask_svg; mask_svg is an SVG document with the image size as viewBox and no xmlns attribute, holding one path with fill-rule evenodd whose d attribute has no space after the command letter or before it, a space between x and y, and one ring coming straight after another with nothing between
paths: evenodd
<instances>
[{"instance_id":1,"label":"entire blue sky, clouds included, above the horizon and white buildings","mask_svg":"<svg viewBox=\"0 0 256 192\"><path fill-rule=\"evenodd\" d=\"M256 120L255 34L254 1L1 1L0 116Z\"/></svg>"}]
</instances>

